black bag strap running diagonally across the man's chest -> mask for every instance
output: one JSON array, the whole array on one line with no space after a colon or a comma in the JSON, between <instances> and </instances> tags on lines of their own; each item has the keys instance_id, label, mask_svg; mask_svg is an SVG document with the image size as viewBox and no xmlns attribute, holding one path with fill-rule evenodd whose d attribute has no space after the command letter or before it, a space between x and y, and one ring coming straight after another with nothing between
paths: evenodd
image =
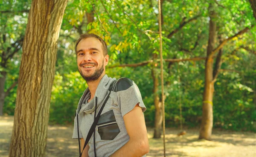
<instances>
[{"instance_id":1,"label":"black bag strap running diagonally across the man's chest","mask_svg":"<svg viewBox=\"0 0 256 157\"><path fill-rule=\"evenodd\" d=\"M93 132L95 131L95 127L96 127L96 125L97 125L97 123L98 123L98 121L99 121L100 114L102 113L102 110L103 110L103 108L105 107L105 104L106 104L107 101L108 101L108 98L109 98L109 96L110 96L111 91L114 90L117 81L118 81L118 80L113 81L113 82L111 83L110 87L108 88L109 93L108 93L108 95L105 97L105 101L103 102L102 107L101 107L100 110L99 110L99 113L97 114L96 118L94 119L94 122L93 122L92 126L90 127L90 130L89 130L89 132L88 132L88 134L87 134L87 137L86 137L86 140L85 140L85 142L84 142L84 148L85 148L85 146L88 144L90 138L91 138L92 135L93 135ZM96 110L96 108L95 108L95 110ZM83 148L82 151L81 151L81 149L80 149L80 138L79 138L78 114L77 114L77 113L76 113L76 116L77 116L77 118L76 118L76 119L77 119L77 134L78 134L78 141L79 141L79 157L81 157L81 155L82 155L82 153L83 153L83 151L84 151L84 148ZM80 153L80 152L81 152L81 153Z\"/></svg>"}]
</instances>

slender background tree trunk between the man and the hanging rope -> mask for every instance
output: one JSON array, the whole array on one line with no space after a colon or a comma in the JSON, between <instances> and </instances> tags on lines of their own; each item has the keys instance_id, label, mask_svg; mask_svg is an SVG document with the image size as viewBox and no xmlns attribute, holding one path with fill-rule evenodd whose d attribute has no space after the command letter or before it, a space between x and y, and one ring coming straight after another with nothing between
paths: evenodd
<instances>
[{"instance_id":1,"label":"slender background tree trunk between the man and the hanging rope","mask_svg":"<svg viewBox=\"0 0 256 157\"><path fill-rule=\"evenodd\" d=\"M157 58L157 54L154 54L154 59ZM152 66L151 70L152 78L153 78L153 96L154 96L154 105L155 105L155 119L154 119L154 137L153 138L160 138L162 132L162 122L163 122L163 114L162 114L162 105L160 102L160 98L158 96L158 86L159 86L159 79L158 75L156 74L156 68L154 65Z\"/></svg>"}]
</instances>

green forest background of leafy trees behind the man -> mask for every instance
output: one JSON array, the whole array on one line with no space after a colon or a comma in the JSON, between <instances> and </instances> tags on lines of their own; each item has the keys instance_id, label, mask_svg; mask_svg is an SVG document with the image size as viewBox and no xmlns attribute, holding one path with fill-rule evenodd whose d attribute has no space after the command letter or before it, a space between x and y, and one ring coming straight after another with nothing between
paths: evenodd
<instances>
[{"instance_id":1,"label":"green forest background of leafy trees behind the man","mask_svg":"<svg viewBox=\"0 0 256 157\"><path fill-rule=\"evenodd\" d=\"M14 115L30 5L26 0L2 0L0 5L2 115ZM256 27L249 1L162 0L161 5L166 127L180 123L199 127L204 120L202 106L208 103L214 128L256 131ZM49 123L73 123L87 87L77 70L74 50L76 39L85 32L107 42L108 76L128 77L138 85L147 107L146 125L154 127L154 136L159 137L163 119L160 45L157 1L153 0L68 1L58 40ZM209 69L214 88L206 82L207 58L213 60ZM208 90L212 102L204 99Z\"/></svg>"}]
</instances>

